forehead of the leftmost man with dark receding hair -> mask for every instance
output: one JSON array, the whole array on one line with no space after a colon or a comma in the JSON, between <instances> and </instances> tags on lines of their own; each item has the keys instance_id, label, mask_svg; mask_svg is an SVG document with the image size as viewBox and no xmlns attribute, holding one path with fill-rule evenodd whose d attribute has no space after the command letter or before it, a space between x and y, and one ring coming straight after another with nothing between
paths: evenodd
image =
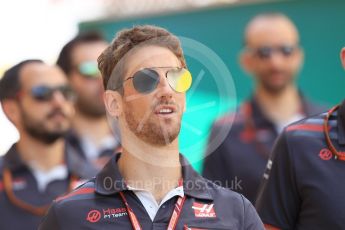
<instances>
[{"instance_id":1,"label":"forehead of the leftmost man with dark receding hair","mask_svg":"<svg viewBox=\"0 0 345 230\"><path fill-rule=\"evenodd\" d=\"M20 71L20 82L24 89L30 89L37 85L58 86L67 83L66 76L56 66L43 63L31 63L25 65Z\"/></svg>"}]
</instances>

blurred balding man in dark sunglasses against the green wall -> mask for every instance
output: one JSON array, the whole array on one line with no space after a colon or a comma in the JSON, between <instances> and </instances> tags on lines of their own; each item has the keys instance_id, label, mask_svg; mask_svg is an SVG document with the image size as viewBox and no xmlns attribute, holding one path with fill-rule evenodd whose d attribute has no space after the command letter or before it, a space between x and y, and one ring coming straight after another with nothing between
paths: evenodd
<instances>
[{"instance_id":1,"label":"blurred balding man in dark sunglasses against the green wall","mask_svg":"<svg viewBox=\"0 0 345 230\"><path fill-rule=\"evenodd\" d=\"M209 143L226 125L231 130L204 162L203 175L242 193L253 204L271 147L284 126L323 108L298 91L296 75L303 61L295 25L279 13L260 14L245 29L240 62L255 81L253 96L215 122Z\"/></svg>"}]
</instances>

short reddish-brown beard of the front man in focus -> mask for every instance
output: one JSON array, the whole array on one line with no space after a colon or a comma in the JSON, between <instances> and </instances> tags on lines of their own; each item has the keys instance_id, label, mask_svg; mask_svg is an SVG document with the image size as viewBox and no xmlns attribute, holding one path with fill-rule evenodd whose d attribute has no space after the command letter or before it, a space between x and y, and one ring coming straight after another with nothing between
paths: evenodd
<instances>
[{"instance_id":1,"label":"short reddish-brown beard of the front man in focus","mask_svg":"<svg viewBox=\"0 0 345 230\"><path fill-rule=\"evenodd\" d=\"M172 143L180 133L181 129L181 120L179 120L178 124L176 125L176 129L172 132L168 132L167 130L163 130L160 121L157 120L152 122L151 120L145 118L141 118L141 121L138 121L133 114L131 113L130 109L125 109L125 118L126 123L129 129L141 140L146 143L149 143L154 146L166 146ZM158 124L157 124L158 123Z\"/></svg>"}]
</instances>

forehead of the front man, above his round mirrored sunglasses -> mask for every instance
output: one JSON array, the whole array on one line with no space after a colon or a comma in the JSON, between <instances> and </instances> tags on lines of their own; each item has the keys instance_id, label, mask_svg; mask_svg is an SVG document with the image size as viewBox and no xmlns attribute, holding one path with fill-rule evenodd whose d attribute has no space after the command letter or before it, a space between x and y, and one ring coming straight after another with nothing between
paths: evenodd
<instances>
[{"instance_id":1,"label":"forehead of the front man, above his round mirrored sunglasses","mask_svg":"<svg viewBox=\"0 0 345 230\"><path fill-rule=\"evenodd\" d=\"M125 59L126 70L149 67L180 67L181 62L168 48L144 46L131 50Z\"/></svg>"}]
</instances>

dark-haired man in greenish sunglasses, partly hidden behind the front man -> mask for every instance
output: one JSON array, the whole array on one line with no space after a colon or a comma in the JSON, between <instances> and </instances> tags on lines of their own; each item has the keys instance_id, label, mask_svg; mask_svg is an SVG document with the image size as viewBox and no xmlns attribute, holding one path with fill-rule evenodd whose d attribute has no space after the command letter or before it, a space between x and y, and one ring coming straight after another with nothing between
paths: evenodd
<instances>
[{"instance_id":1,"label":"dark-haired man in greenish sunglasses, partly hidden behind the front man","mask_svg":"<svg viewBox=\"0 0 345 230\"><path fill-rule=\"evenodd\" d=\"M114 137L106 119L97 68L97 57L106 47L107 42L99 33L81 33L62 48L57 60L77 94L76 113L67 140L96 169L119 147L119 137Z\"/></svg>"}]
</instances>

